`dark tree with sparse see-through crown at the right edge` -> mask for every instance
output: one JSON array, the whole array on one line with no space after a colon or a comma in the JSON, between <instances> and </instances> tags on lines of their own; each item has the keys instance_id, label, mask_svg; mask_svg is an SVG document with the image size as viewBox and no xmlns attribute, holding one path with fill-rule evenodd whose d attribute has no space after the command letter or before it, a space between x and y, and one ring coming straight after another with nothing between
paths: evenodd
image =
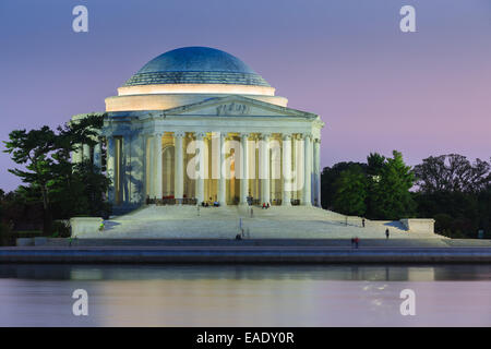
<instances>
[{"instance_id":1,"label":"dark tree with sparse see-through crown at the right edge","mask_svg":"<svg viewBox=\"0 0 491 349\"><path fill-rule=\"evenodd\" d=\"M430 156L415 167L418 215L433 217L435 231L451 238L491 234L491 166L465 156Z\"/></svg>"}]
</instances>

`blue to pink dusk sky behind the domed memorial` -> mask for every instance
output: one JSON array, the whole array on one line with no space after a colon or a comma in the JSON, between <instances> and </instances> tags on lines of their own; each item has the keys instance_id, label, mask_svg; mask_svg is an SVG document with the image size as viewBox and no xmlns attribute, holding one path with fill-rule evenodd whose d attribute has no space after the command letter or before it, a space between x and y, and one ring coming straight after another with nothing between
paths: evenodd
<instances>
[{"instance_id":1,"label":"blue to pink dusk sky behind the domed memorial","mask_svg":"<svg viewBox=\"0 0 491 349\"><path fill-rule=\"evenodd\" d=\"M72 9L88 9L88 33ZM399 9L416 8L416 33ZM104 111L154 57L209 46L321 116L322 167L370 152L491 156L490 0L1 0L0 140ZM0 146L4 149L3 143ZM20 181L0 154L0 188Z\"/></svg>"}]
</instances>

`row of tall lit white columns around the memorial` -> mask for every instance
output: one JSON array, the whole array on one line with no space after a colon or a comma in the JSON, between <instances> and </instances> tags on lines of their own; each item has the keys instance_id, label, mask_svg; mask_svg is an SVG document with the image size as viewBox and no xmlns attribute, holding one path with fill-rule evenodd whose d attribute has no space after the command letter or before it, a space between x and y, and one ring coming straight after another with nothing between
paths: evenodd
<instances>
[{"instance_id":1,"label":"row of tall lit white columns around the memorial","mask_svg":"<svg viewBox=\"0 0 491 349\"><path fill-rule=\"evenodd\" d=\"M173 178L167 170L165 179L164 170L171 164L165 160L167 147ZM99 154L96 146L94 161L99 161ZM171 131L109 136L107 173L113 183L109 200L117 204L168 197L176 204L195 198L197 204L213 201L221 206L321 204L320 140L310 133Z\"/></svg>"}]
</instances>

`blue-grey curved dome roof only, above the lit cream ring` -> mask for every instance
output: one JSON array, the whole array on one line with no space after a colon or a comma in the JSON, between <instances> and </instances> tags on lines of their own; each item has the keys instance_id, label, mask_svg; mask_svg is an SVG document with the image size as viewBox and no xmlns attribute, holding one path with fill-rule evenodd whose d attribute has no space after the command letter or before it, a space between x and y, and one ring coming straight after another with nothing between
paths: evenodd
<instances>
[{"instance_id":1,"label":"blue-grey curved dome roof only, above the lit cream ring","mask_svg":"<svg viewBox=\"0 0 491 349\"><path fill-rule=\"evenodd\" d=\"M158 84L231 84L270 86L244 62L209 47L183 47L146 63L124 86Z\"/></svg>"}]
</instances>

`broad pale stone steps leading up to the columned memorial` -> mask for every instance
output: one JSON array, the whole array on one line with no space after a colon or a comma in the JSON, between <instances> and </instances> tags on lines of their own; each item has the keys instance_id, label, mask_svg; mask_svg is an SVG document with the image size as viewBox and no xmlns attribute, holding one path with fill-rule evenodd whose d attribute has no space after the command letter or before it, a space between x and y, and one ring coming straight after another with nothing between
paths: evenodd
<instances>
[{"instance_id":1,"label":"broad pale stone steps leading up to the columned memorial","mask_svg":"<svg viewBox=\"0 0 491 349\"><path fill-rule=\"evenodd\" d=\"M252 212L251 212L252 210ZM366 220L318 207L248 206L140 207L105 221L103 232L79 238L108 239L233 239L241 231L251 239L432 239L436 234L407 231L399 221Z\"/></svg>"}]
</instances>

